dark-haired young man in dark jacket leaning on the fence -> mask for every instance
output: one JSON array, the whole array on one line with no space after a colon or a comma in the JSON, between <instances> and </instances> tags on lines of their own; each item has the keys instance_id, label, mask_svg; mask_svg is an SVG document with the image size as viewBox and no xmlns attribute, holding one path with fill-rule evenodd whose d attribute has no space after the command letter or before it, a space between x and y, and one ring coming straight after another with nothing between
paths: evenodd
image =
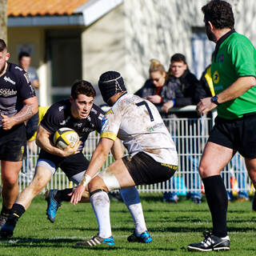
<instances>
[{"instance_id":1,"label":"dark-haired young man in dark jacket leaning on the fence","mask_svg":"<svg viewBox=\"0 0 256 256\"><path fill-rule=\"evenodd\" d=\"M188 69L186 57L183 54L174 54L170 58L169 74L169 82L173 85L172 89L174 90L174 106L195 105L197 103L195 90L198 86L198 79ZM198 118L195 112L178 112L177 115L179 118ZM201 181L197 171L199 165L198 154L200 153L198 145L200 145L200 142L196 141L199 138L192 138L192 136L196 135L194 134L194 129L190 129L195 126L194 120L190 120L188 125L190 127L186 126L184 130L180 130L181 134L186 138L185 142L182 138L182 142L177 146L178 152L181 153L180 168L185 171L186 187L192 190L187 194L187 198L191 198L194 203L201 203ZM185 155L185 157L182 155ZM188 176L187 172L189 172ZM171 193L170 198L176 198L177 195L175 194Z\"/></svg>"}]
</instances>

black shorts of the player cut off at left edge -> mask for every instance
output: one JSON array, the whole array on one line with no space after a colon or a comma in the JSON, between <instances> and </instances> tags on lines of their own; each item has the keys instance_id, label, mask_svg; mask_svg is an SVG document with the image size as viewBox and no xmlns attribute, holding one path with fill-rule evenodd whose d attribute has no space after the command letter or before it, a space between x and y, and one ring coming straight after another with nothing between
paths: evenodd
<instances>
[{"instance_id":1,"label":"black shorts of the player cut off at left edge","mask_svg":"<svg viewBox=\"0 0 256 256\"><path fill-rule=\"evenodd\" d=\"M26 127L19 124L10 130L0 129L0 160L19 162L26 158Z\"/></svg>"}]
</instances>

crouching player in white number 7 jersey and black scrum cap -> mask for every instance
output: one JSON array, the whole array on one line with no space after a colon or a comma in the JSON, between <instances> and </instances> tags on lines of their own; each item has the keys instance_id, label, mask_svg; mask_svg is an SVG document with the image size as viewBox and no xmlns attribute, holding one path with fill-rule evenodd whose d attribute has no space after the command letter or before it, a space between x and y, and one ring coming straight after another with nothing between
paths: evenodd
<instances>
[{"instance_id":1,"label":"crouching player in white number 7 jersey and black scrum cap","mask_svg":"<svg viewBox=\"0 0 256 256\"><path fill-rule=\"evenodd\" d=\"M98 86L111 109L102 119L101 140L70 202L77 204L88 186L99 231L98 235L79 242L78 246L102 243L114 246L108 191L164 182L174 175L178 165L174 142L154 104L127 94L122 76L116 71L102 74ZM96 175L116 138L123 141L130 155L116 160Z\"/></svg>"}]
</instances>

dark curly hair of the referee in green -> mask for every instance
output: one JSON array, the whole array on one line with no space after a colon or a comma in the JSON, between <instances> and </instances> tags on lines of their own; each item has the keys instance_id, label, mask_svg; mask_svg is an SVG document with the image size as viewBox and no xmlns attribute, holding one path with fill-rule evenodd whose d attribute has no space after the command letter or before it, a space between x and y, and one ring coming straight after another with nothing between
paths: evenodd
<instances>
[{"instance_id":1,"label":"dark curly hair of the referee in green","mask_svg":"<svg viewBox=\"0 0 256 256\"><path fill-rule=\"evenodd\" d=\"M218 30L224 28L234 28L234 14L229 2L223 0L211 0L205 6L202 6L202 12L205 15L204 22L214 25Z\"/></svg>"}]
</instances>

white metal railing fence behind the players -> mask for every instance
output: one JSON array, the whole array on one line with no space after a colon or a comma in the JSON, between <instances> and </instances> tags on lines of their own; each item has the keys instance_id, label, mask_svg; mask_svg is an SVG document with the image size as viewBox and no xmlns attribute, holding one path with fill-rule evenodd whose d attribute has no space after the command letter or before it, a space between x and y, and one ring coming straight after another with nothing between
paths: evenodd
<instances>
[{"instance_id":1,"label":"white metal railing fence behind the players","mask_svg":"<svg viewBox=\"0 0 256 256\"><path fill-rule=\"evenodd\" d=\"M213 118L164 118L166 127L177 146L178 171L168 182L138 186L138 190L150 193L175 191L181 195L186 195L188 192L203 192L202 181L198 174L198 164L210 129L213 126L213 120ZM99 134L90 134L84 147L86 158L91 158L98 140ZM19 190L23 190L34 176L38 147L35 145L30 146L27 153L27 160L23 161L22 171L18 178ZM110 165L114 161L113 159L110 154L103 168ZM239 154L235 154L232 161L222 171L222 178L228 191L233 191L234 193L238 193L238 191L253 191L244 160ZM58 169L45 189L64 189L70 186L73 186L73 184L68 181L62 170Z\"/></svg>"}]
</instances>

